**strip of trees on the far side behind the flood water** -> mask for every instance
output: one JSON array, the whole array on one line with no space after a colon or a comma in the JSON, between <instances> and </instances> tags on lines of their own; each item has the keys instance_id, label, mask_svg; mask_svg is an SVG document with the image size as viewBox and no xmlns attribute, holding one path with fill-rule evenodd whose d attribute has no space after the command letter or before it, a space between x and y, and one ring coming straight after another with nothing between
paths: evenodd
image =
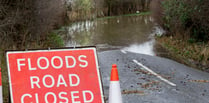
<instances>
[{"instance_id":1,"label":"strip of trees on the far side behind the flood water","mask_svg":"<svg viewBox=\"0 0 209 103\"><path fill-rule=\"evenodd\" d=\"M91 19L102 16L113 16L148 11L152 0L72 0L68 2L68 17ZM90 16L89 16L90 15Z\"/></svg>"}]
</instances>

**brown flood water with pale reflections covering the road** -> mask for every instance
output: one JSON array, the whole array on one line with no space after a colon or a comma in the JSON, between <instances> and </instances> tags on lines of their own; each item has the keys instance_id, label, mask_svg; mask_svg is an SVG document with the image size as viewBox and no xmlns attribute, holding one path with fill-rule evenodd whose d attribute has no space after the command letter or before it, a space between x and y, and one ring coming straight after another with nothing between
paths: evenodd
<instances>
[{"instance_id":1,"label":"brown flood water with pale reflections covering the road","mask_svg":"<svg viewBox=\"0 0 209 103\"><path fill-rule=\"evenodd\" d=\"M96 46L99 51L120 49L156 55L154 34L161 34L151 16L121 16L72 23L67 47Z\"/></svg>"}]
</instances>

